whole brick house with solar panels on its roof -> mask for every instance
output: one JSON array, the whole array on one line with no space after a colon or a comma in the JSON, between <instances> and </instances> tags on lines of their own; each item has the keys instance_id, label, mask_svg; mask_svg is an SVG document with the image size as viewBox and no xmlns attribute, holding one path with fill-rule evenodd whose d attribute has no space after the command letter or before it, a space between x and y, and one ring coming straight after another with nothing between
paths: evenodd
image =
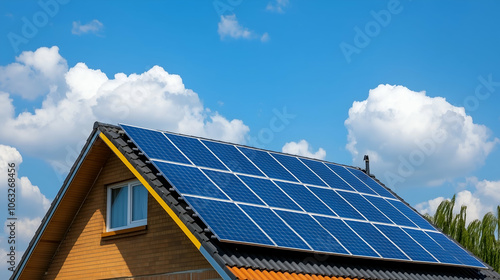
<instances>
[{"instance_id":1,"label":"whole brick house with solar panels on its roof","mask_svg":"<svg viewBox=\"0 0 500 280\"><path fill-rule=\"evenodd\" d=\"M96 122L11 279L500 275L359 168Z\"/></svg>"}]
</instances>

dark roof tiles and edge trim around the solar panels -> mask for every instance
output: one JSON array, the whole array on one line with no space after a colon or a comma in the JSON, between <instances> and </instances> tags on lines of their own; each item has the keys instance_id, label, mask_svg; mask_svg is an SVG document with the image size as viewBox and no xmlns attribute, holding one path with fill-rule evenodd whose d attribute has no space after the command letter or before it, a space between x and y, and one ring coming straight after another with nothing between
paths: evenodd
<instances>
[{"instance_id":1,"label":"dark roof tiles and edge trim around the solar panels","mask_svg":"<svg viewBox=\"0 0 500 280\"><path fill-rule=\"evenodd\" d=\"M59 194L54 199L51 208L11 279L19 277L28 260L38 258L44 253L47 256L55 252L57 246L52 246L56 248L51 249L40 245L44 243L44 238L46 238L44 233L47 231L47 227L51 225L54 212L61 209L61 205L64 204L64 197L76 194L77 191L74 190L76 188L68 189L71 183L75 180L85 179L81 179L78 175L79 173L85 173L81 172L82 170L90 168L91 165L87 161L91 163L99 161L97 155L94 156L96 158L87 157L89 154L93 154L89 153L89 151L103 149L105 146L110 148L110 150L107 149L108 155L112 151L120 158L143 183L155 200L174 219L179 228L189 237L221 277L225 279L250 279L254 277L256 279L270 279L270 272L274 272L273 277L297 275L299 278L302 278L300 275L308 275L307 277L322 275L353 279L500 279L500 275L491 268L477 269L345 258L314 252L288 251L248 244L220 242L213 237L212 232L205 230L207 227L203 221L196 216L182 196L172 188L168 180L158 172L151 160L128 138L122 128L102 123L94 125L94 130L87 144L70 171ZM95 154L101 154L102 156L105 152ZM98 164L93 170L96 169L98 169ZM90 173L95 176L98 174L96 171ZM86 180L88 181L89 178ZM84 191L84 188L80 189L80 192L84 193ZM84 195L79 197L83 202ZM70 221L64 221L63 223L69 226ZM64 234L50 240L51 244L57 244L62 238L64 238ZM46 259L50 261L50 258Z\"/></svg>"}]
</instances>

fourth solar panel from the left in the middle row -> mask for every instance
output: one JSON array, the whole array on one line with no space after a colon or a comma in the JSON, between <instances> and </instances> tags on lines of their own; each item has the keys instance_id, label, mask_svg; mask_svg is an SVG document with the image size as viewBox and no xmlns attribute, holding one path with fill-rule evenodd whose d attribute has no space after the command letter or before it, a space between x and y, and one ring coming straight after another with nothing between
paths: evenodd
<instances>
[{"instance_id":1,"label":"fourth solar panel from the left in the middle row","mask_svg":"<svg viewBox=\"0 0 500 280\"><path fill-rule=\"evenodd\" d=\"M304 185L285 183L277 181L276 184L285 191L295 202L297 202L306 212L336 216L328 207L321 202Z\"/></svg>"}]
</instances>

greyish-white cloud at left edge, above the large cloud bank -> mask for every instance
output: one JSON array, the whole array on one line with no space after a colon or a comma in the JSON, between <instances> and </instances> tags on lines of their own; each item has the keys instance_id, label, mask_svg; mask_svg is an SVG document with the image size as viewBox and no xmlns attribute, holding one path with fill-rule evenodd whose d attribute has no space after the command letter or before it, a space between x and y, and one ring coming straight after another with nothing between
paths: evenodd
<instances>
[{"instance_id":1,"label":"greyish-white cloud at left edge, above the large cloud bank","mask_svg":"<svg viewBox=\"0 0 500 280\"><path fill-rule=\"evenodd\" d=\"M58 47L26 51L16 57L15 63L0 66L0 91L25 99L64 91L64 74L67 71L68 65L59 55ZM5 105L4 100L1 104Z\"/></svg>"}]
</instances>

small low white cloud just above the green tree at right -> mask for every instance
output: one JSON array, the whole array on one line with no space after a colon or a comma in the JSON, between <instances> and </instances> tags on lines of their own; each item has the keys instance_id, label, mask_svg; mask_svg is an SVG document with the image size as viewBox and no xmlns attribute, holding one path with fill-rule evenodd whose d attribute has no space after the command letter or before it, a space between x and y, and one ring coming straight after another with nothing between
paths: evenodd
<instances>
[{"instance_id":1,"label":"small low white cloud just above the green tree at right","mask_svg":"<svg viewBox=\"0 0 500 280\"><path fill-rule=\"evenodd\" d=\"M456 195L453 209L455 214L460 211L462 205L466 205L467 223L470 223L475 219L482 219L488 212L495 213L496 207L500 205L500 181L479 181L476 177L469 177L461 185L466 189ZM417 204L415 208L421 213L434 215L443 200L445 200L443 197L434 198Z\"/></svg>"}]
</instances>

